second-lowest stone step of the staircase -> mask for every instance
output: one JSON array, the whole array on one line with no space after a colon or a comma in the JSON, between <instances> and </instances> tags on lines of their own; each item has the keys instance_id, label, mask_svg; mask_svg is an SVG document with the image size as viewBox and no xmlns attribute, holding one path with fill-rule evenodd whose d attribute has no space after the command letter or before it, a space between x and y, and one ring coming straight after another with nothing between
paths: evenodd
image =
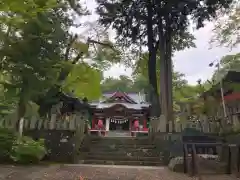
<instances>
[{"instance_id":1,"label":"second-lowest stone step of the staircase","mask_svg":"<svg viewBox=\"0 0 240 180\"><path fill-rule=\"evenodd\" d=\"M84 157L87 160L106 160L106 161L153 161L158 162L160 158L158 156L132 156L131 154L123 156L101 156L99 154L87 155Z\"/></svg>"}]
</instances>

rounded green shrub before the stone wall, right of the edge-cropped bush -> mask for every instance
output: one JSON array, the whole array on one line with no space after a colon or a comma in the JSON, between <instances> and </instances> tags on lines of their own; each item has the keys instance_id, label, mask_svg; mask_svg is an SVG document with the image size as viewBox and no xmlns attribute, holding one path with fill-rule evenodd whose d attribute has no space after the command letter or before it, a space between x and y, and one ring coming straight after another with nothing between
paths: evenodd
<instances>
[{"instance_id":1,"label":"rounded green shrub before the stone wall, right of the edge-cropped bush","mask_svg":"<svg viewBox=\"0 0 240 180\"><path fill-rule=\"evenodd\" d=\"M43 139L34 141L32 138L24 136L13 145L11 158L21 164L38 163L46 153Z\"/></svg>"}]
</instances>

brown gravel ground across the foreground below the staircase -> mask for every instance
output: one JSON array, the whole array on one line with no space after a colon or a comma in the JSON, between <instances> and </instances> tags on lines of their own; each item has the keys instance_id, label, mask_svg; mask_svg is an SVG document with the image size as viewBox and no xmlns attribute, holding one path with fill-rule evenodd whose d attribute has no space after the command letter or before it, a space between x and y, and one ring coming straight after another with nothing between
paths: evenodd
<instances>
[{"instance_id":1,"label":"brown gravel ground across the foreground below the staircase","mask_svg":"<svg viewBox=\"0 0 240 180\"><path fill-rule=\"evenodd\" d=\"M81 177L83 177L81 179ZM165 167L128 166L0 166L0 180L194 180ZM233 176L210 175L201 180L236 180Z\"/></svg>"}]
</instances>

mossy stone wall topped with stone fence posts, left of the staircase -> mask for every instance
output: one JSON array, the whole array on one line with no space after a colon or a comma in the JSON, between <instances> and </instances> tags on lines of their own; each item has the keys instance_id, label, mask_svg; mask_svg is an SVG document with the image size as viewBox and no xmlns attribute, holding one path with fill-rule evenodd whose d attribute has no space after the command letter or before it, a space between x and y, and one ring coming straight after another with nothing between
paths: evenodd
<instances>
[{"instance_id":1,"label":"mossy stone wall topped with stone fence posts, left of the staircase","mask_svg":"<svg viewBox=\"0 0 240 180\"><path fill-rule=\"evenodd\" d=\"M57 118L55 114L50 119L32 117L25 119L23 135L37 140L45 139L48 154L45 160L63 163L77 163L79 149L85 137L87 117L85 113L73 114L67 119ZM0 126L14 128L16 121L1 120Z\"/></svg>"}]
</instances>

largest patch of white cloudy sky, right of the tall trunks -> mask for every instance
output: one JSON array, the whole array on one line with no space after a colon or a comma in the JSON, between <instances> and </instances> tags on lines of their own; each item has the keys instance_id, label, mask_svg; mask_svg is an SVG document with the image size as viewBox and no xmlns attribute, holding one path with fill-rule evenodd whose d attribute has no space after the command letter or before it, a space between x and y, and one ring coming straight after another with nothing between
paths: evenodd
<instances>
[{"instance_id":1,"label":"largest patch of white cloudy sky, right of the tall trunks","mask_svg":"<svg viewBox=\"0 0 240 180\"><path fill-rule=\"evenodd\" d=\"M174 56L175 69L186 75L190 84L195 84L198 79L207 80L214 69L208 65L222 56L239 52L239 48L232 51L228 48L214 47L209 49L209 40L212 36L212 23L207 23L202 29L193 32L196 38L196 48L176 52Z\"/></svg>"}]
</instances>

